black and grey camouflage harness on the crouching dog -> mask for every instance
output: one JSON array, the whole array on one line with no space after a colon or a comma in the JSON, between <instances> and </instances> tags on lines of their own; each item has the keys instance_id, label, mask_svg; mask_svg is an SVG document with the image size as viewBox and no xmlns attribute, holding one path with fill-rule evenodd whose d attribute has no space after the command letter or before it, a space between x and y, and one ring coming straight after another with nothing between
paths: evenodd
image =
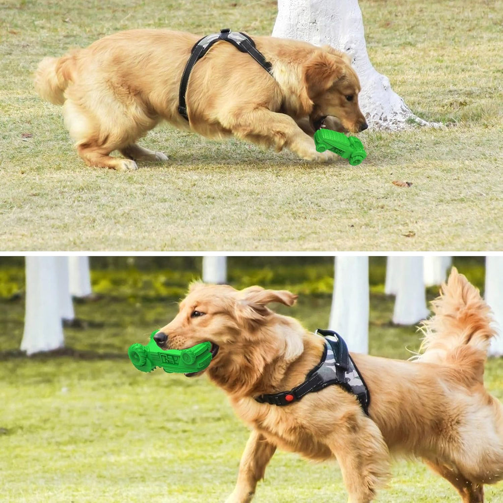
<instances>
[{"instance_id":1,"label":"black and grey camouflage harness on the crouching dog","mask_svg":"<svg viewBox=\"0 0 503 503\"><path fill-rule=\"evenodd\" d=\"M257 50L255 47L255 42L242 32L231 32L230 28L224 28L220 30L220 33L214 33L213 35L207 35L199 40L191 51L191 56L185 65L184 72L182 74L182 80L180 81L180 93L178 97L178 112L186 120L189 120L187 115L187 103L185 102L185 93L187 92L187 86L189 84L189 77L194 68L196 62L201 59L209 50L209 48L219 40L225 40L230 42L234 47L239 49L241 52L247 52L251 57L257 61L265 70L271 73L272 64L266 60L264 55Z\"/></svg>"}]
</instances>

